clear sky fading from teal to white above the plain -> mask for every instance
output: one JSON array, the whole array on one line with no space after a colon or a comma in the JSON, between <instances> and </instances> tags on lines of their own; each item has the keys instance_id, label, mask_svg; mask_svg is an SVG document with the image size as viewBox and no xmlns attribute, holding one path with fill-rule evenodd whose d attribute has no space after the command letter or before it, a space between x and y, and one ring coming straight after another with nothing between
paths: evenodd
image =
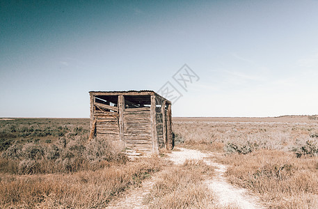
<instances>
[{"instance_id":1,"label":"clear sky fading from teal to white above the plain","mask_svg":"<svg viewBox=\"0 0 318 209\"><path fill-rule=\"evenodd\" d=\"M318 1L0 1L0 117L200 77L173 116L318 114Z\"/></svg>"}]
</instances>

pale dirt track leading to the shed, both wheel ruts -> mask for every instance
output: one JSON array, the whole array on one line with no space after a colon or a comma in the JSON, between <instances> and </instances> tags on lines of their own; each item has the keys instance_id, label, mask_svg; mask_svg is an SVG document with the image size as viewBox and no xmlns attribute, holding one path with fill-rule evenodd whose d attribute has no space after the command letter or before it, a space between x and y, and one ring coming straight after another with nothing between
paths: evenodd
<instances>
[{"instance_id":1,"label":"pale dirt track leading to the shed, both wheel ruts","mask_svg":"<svg viewBox=\"0 0 318 209\"><path fill-rule=\"evenodd\" d=\"M218 196L218 206L237 206L244 209L262 208L257 204L255 197L247 194L246 189L237 189L227 182L224 176L227 167L207 159L207 157L213 156L212 153L205 154L198 150L179 149L180 151L173 151L168 154L169 159L175 164L183 164L185 160L204 160L207 164L216 167L215 177L212 180L206 180L205 183ZM156 175L159 175L159 173ZM143 197L150 192L152 185L154 185L154 177L145 180L141 187L129 190L125 196L111 201L107 208L146 208L146 206L143 206Z\"/></svg>"}]
</instances>

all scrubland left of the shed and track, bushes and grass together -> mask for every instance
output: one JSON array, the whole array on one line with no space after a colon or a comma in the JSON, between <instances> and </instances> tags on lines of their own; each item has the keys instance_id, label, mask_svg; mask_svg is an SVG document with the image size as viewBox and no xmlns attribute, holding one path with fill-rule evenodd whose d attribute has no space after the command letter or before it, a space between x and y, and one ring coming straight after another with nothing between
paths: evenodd
<instances>
[{"instance_id":1,"label":"all scrubland left of the shed and track, bushes and grass together","mask_svg":"<svg viewBox=\"0 0 318 209\"><path fill-rule=\"evenodd\" d=\"M0 125L1 143L9 143L1 146L0 208L104 208L163 167L159 157L129 162L122 148L87 143L88 119Z\"/></svg>"}]
</instances>

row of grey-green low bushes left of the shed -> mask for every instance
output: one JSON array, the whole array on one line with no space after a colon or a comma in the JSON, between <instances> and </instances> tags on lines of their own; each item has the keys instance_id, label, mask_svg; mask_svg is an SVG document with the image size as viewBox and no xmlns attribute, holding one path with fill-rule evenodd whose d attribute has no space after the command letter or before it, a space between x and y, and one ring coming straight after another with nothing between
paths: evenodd
<instances>
[{"instance_id":1,"label":"row of grey-green low bushes left of the shed","mask_svg":"<svg viewBox=\"0 0 318 209\"><path fill-rule=\"evenodd\" d=\"M13 144L2 153L2 160L18 162L17 169L5 169L2 164L1 171L16 171L19 174L35 173L72 173L84 170L102 169L105 162L127 162L127 156L120 148L111 146L106 140L93 139L86 144L86 138L61 137L56 144L44 146L35 144ZM9 166L9 164L7 164Z\"/></svg>"}]
</instances>

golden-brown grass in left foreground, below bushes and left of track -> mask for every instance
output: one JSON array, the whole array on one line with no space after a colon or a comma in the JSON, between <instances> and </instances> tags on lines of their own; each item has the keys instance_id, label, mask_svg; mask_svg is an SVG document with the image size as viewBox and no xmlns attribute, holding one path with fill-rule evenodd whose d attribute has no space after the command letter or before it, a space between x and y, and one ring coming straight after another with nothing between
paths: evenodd
<instances>
[{"instance_id":1,"label":"golden-brown grass in left foreground, below bushes and left of track","mask_svg":"<svg viewBox=\"0 0 318 209\"><path fill-rule=\"evenodd\" d=\"M159 171L158 157L69 175L2 175L0 208L104 208L113 196Z\"/></svg>"}]
</instances>

